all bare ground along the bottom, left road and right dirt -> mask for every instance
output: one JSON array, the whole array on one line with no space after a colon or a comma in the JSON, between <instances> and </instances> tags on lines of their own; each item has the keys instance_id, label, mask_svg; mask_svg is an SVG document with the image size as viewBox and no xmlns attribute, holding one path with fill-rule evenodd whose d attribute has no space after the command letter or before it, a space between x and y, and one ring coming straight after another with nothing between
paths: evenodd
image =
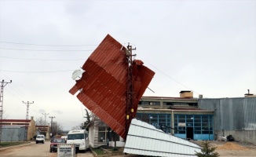
<instances>
[{"instance_id":1,"label":"all bare ground along the bottom, left road and right dirt","mask_svg":"<svg viewBox=\"0 0 256 157\"><path fill-rule=\"evenodd\" d=\"M203 141L192 141L196 144L201 144ZM210 141L211 147L217 147L215 152L218 152L221 157L232 156L254 156L256 157L256 144L245 144L240 142L226 142L226 141ZM46 144L29 144L24 147L17 147L13 149L7 149L0 153L0 156L57 156L57 153L49 153L49 142ZM27 151L29 150L29 151ZM33 152L31 152L33 150ZM1 151L1 149L0 149ZM12 155L10 155L10 153ZM35 153L35 154L33 154ZM79 153L77 157L93 157L92 152ZM143 155L115 155L115 157L141 157Z\"/></svg>"}]
</instances>

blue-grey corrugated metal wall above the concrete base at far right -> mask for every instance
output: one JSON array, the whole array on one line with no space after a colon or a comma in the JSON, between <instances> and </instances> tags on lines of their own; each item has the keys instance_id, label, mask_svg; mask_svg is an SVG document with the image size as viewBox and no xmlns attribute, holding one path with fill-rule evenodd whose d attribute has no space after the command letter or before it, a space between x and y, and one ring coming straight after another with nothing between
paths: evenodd
<instances>
[{"instance_id":1,"label":"blue-grey corrugated metal wall above the concrete base at far right","mask_svg":"<svg viewBox=\"0 0 256 157\"><path fill-rule=\"evenodd\" d=\"M198 105L214 111L214 130L256 130L256 97L199 99Z\"/></svg>"}]
</instances>

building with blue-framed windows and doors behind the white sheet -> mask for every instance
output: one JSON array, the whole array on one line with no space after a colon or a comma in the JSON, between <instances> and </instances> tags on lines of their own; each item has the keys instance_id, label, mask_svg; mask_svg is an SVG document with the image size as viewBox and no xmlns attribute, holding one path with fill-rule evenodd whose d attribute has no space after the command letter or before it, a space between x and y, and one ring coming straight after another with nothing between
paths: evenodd
<instances>
[{"instance_id":1,"label":"building with blue-framed windows and doors behind the white sheet","mask_svg":"<svg viewBox=\"0 0 256 157\"><path fill-rule=\"evenodd\" d=\"M136 118L188 140L214 140L214 111L198 108L192 91L180 97L141 97Z\"/></svg>"}]
</instances>

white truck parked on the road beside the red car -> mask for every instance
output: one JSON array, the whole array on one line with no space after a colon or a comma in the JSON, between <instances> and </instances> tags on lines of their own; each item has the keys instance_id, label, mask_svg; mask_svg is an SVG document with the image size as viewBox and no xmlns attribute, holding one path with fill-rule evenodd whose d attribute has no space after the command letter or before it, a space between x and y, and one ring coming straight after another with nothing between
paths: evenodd
<instances>
[{"instance_id":1,"label":"white truck parked on the road beside the red car","mask_svg":"<svg viewBox=\"0 0 256 157\"><path fill-rule=\"evenodd\" d=\"M67 144L75 144L75 153L84 151L89 148L88 131L71 130L68 132Z\"/></svg>"}]
</instances>

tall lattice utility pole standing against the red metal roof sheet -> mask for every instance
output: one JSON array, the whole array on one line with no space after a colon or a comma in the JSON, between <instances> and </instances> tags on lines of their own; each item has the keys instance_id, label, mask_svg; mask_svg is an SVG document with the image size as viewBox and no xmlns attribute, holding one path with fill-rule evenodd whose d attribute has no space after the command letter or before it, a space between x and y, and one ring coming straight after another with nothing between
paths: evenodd
<instances>
[{"instance_id":1,"label":"tall lattice utility pole standing against the red metal roof sheet","mask_svg":"<svg viewBox=\"0 0 256 157\"><path fill-rule=\"evenodd\" d=\"M136 49L136 48L135 48ZM127 61L127 82L126 82L126 136L128 134L129 123L134 118L133 109L133 48L128 43L126 50L126 61Z\"/></svg>"}]
</instances>

